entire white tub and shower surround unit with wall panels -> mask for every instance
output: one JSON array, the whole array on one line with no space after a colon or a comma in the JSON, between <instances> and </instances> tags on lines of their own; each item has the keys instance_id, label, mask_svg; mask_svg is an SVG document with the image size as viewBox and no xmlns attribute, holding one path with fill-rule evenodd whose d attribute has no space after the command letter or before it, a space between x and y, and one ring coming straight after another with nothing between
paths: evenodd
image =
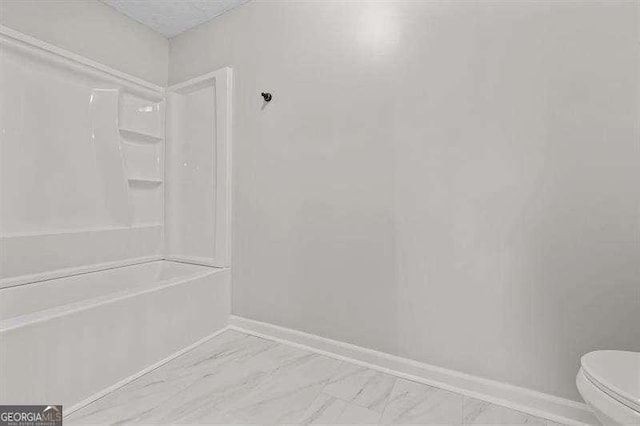
<instances>
[{"instance_id":1,"label":"entire white tub and shower surround unit with wall panels","mask_svg":"<svg viewBox=\"0 0 640 426\"><path fill-rule=\"evenodd\" d=\"M69 412L228 323L231 70L166 89L0 30L0 403Z\"/></svg>"}]
</instances>

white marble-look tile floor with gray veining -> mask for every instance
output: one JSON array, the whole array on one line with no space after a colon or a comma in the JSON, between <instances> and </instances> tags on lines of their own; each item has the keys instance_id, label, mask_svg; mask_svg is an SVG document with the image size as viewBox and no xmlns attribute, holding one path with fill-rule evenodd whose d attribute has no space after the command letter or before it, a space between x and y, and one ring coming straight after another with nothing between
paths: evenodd
<instances>
[{"instance_id":1,"label":"white marble-look tile floor with gray veining","mask_svg":"<svg viewBox=\"0 0 640 426\"><path fill-rule=\"evenodd\" d=\"M65 424L550 421L292 346L225 331L65 417Z\"/></svg>"}]
</instances>

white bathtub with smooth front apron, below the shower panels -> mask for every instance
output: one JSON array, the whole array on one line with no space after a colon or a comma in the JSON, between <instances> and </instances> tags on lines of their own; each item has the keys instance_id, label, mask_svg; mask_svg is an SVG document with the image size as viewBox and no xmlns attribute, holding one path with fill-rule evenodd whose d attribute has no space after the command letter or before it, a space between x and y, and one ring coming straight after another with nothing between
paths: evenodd
<instances>
[{"instance_id":1,"label":"white bathtub with smooth front apron, below the shower panels","mask_svg":"<svg viewBox=\"0 0 640 426\"><path fill-rule=\"evenodd\" d=\"M0 289L0 404L78 405L221 330L229 280L162 260Z\"/></svg>"}]
</instances>

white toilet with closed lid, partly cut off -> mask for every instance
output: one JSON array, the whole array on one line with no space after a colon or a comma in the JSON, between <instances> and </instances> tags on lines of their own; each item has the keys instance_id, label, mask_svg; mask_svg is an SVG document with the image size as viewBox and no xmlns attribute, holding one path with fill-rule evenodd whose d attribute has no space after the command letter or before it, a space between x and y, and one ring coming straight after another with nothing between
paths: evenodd
<instances>
[{"instance_id":1,"label":"white toilet with closed lid, partly cut off","mask_svg":"<svg viewBox=\"0 0 640 426\"><path fill-rule=\"evenodd\" d=\"M603 425L640 425L640 352L590 352L576 384Z\"/></svg>"}]
</instances>

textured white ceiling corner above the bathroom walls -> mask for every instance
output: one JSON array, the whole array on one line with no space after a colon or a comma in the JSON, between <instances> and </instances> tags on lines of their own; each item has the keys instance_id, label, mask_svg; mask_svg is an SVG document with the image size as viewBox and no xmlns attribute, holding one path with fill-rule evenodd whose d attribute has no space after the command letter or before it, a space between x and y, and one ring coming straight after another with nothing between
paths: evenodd
<instances>
[{"instance_id":1,"label":"textured white ceiling corner above the bathroom walls","mask_svg":"<svg viewBox=\"0 0 640 426\"><path fill-rule=\"evenodd\" d=\"M173 37L248 0L102 1L165 37Z\"/></svg>"}]
</instances>

